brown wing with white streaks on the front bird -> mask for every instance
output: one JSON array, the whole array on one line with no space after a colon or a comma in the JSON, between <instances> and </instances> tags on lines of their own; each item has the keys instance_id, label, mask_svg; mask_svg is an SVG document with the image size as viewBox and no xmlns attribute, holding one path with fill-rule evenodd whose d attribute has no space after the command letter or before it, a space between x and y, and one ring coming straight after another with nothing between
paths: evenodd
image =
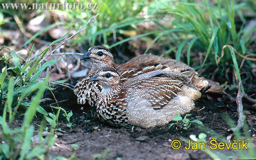
<instances>
[{"instance_id":1,"label":"brown wing with white streaks on the front bird","mask_svg":"<svg viewBox=\"0 0 256 160\"><path fill-rule=\"evenodd\" d=\"M183 84L189 83L188 77L182 73L155 70L125 81L119 96L127 94L131 101L138 97L147 99L154 109L161 109L182 91Z\"/></svg>"}]
</instances>

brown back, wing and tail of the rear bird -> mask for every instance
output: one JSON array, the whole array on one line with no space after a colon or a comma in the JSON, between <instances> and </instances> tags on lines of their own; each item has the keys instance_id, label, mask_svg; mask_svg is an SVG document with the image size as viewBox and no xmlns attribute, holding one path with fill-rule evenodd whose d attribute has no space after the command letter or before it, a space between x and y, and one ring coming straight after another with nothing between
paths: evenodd
<instances>
[{"instance_id":1,"label":"brown back, wing and tail of the rear bird","mask_svg":"<svg viewBox=\"0 0 256 160\"><path fill-rule=\"evenodd\" d=\"M116 69L121 76L122 82L143 73L147 73L153 70L165 69L186 74L186 76L191 79L192 85L197 87L198 90L201 90L210 84L211 87L207 92L220 93L224 91L224 88L221 87L218 82L198 77L198 73L185 63L176 61L175 59L167 59L153 54L143 54L136 56L130 61L118 65Z\"/></svg>"}]
</instances>

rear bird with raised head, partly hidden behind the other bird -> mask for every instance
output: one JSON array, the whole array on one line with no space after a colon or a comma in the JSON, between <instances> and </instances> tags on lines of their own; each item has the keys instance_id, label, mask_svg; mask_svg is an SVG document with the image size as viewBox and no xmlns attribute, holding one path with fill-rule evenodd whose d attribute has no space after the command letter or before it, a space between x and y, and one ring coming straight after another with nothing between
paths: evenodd
<instances>
[{"instance_id":1,"label":"rear bird with raised head, partly hidden behind the other bird","mask_svg":"<svg viewBox=\"0 0 256 160\"><path fill-rule=\"evenodd\" d=\"M221 92L222 87L217 82L204 79L197 76L197 72L190 66L176 61L175 59L167 59L154 54L142 54L132 58L130 61L121 65L114 64L114 57L111 51L105 46L90 47L80 60L87 60L90 62L92 69L87 76L79 81L74 87L74 93L77 96L78 104L86 104L89 106L96 106L96 98L102 90L102 86L97 81L88 82L88 80L99 70L100 67L116 68L121 76L121 83L128 81L134 76L147 73L153 70L166 69L169 71L180 72L186 74L191 83L194 84L198 90L209 88L207 91Z\"/></svg>"}]
</instances>

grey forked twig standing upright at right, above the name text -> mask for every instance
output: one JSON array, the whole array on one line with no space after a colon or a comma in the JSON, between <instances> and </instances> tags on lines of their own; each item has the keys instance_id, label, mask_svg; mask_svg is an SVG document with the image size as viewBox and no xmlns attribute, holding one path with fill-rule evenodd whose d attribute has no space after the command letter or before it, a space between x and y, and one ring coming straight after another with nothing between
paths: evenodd
<instances>
[{"instance_id":1,"label":"grey forked twig standing upright at right, above the name text","mask_svg":"<svg viewBox=\"0 0 256 160\"><path fill-rule=\"evenodd\" d=\"M245 115L243 113L243 104L242 104L242 98L246 99L249 102L252 103L256 103L256 99L250 98L249 95L242 93L241 91L241 84L242 82L239 82L238 85L238 93L236 96L236 104L237 104L237 112L238 112L238 121L237 121L237 126L235 128L231 128L230 130L232 130L233 132L236 130L239 130L243 127L244 125L244 119L245 119Z\"/></svg>"}]
</instances>

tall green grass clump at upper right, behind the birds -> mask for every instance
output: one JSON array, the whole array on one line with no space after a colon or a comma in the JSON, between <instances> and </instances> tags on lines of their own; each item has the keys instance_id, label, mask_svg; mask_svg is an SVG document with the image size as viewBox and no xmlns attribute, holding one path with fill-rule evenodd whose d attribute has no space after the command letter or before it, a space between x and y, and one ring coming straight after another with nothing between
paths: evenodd
<instances>
[{"instance_id":1,"label":"tall green grass clump at upper right, behind the birds","mask_svg":"<svg viewBox=\"0 0 256 160\"><path fill-rule=\"evenodd\" d=\"M248 5L250 1L237 3L235 0L202 0L200 3L195 3L188 0L160 0L157 2L161 8L160 12L169 14L173 20L169 22L171 25L165 23L166 29L152 40L145 52L157 41L157 45L161 43L166 45L166 39L172 38L167 40L170 50L163 55L175 53L178 61L186 56L187 64L190 65L191 51L202 51L205 57L201 67L204 67L206 62L215 63L226 69L234 67L237 78L241 81L239 70L239 63L243 59L241 55L255 56L252 48L248 47L255 40L251 34L256 31L256 26L247 30L245 28L247 21L244 17L246 15L243 14L246 10L255 15L255 10ZM236 19L242 22L241 27L236 25ZM171 31L169 28L180 30ZM246 62L252 66L253 61ZM224 71L222 70L221 73Z\"/></svg>"}]
</instances>

